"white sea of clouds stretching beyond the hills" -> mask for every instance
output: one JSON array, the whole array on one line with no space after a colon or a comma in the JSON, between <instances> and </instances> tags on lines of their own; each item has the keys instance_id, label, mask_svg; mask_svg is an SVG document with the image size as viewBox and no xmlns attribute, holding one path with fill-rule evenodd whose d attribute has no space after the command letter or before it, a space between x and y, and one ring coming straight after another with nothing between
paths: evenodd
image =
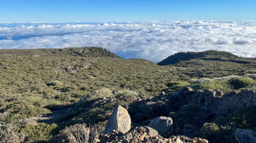
<instances>
[{"instance_id":1,"label":"white sea of clouds stretching beyond the hills","mask_svg":"<svg viewBox=\"0 0 256 143\"><path fill-rule=\"evenodd\" d=\"M256 57L256 22L0 23L0 49L86 46L154 62L181 51L225 50Z\"/></svg>"}]
</instances>

